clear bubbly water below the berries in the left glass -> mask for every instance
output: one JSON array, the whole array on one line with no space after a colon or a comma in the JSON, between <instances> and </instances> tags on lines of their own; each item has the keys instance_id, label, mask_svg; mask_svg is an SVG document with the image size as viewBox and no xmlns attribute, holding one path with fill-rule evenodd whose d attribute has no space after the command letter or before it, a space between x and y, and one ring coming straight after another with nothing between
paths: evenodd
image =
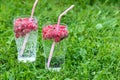
<instances>
[{"instance_id":1,"label":"clear bubbly water below the berries in the left glass","mask_svg":"<svg viewBox=\"0 0 120 80\"><path fill-rule=\"evenodd\" d=\"M24 42L24 37L16 38L16 45L18 50L18 60L23 62L33 62L36 60L36 47L37 47L37 34L38 31L32 31L29 33L28 42L24 49L22 56L20 55L21 47Z\"/></svg>"}]
</instances>

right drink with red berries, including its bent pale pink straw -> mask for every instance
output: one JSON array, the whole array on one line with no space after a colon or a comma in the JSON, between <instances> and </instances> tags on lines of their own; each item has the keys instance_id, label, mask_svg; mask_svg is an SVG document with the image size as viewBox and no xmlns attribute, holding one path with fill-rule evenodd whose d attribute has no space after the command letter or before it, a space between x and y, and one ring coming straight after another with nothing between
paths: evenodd
<instances>
[{"instance_id":1,"label":"right drink with red berries, including its bent pale pink straw","mask_svg":"<svg viewBox=\"0 0 120 80\"><path fill-rule=\"evenodd\" d=\"M74 5L71 5L69 8L67 8L64 12L62 12L59 17L58 17L58 22L55 25L46 25L44 26L42 30L42 37L43 40L49 40L52 39L52 46L51 49L49 49L48 45L50 44L49 42L45 42L44 45L44 51L45 51L45 58L47 60L46 62L46 68L48 69L53 69L53 70L60 70L61 64L64 63L64 51L65 51L65 46L60 45L61 40L66 38L68 36L68 31L66 26L60 25L60 20L63 15L65 15L69 10L71 10L74 7ZM47 43L47 45L46 45ZM57 46L57 50L54 48ZM48 56L48 50L50 51L49 56ZM53 54L54 53L54 54ZM54 57L52 59L52 57ZM52 59L52 60L51 60ZM52 63L52 64L51 64Z\"/></svg>"}]
</instances>

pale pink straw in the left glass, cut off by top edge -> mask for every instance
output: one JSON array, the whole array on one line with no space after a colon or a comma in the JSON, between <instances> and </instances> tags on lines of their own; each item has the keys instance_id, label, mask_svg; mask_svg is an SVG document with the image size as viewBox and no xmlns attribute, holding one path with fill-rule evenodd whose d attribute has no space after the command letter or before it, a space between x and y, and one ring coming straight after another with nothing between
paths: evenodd
<instances>
[{"instance_id":1,"label":"pale pink straw in the left glass, cut off by top edge","mask_svg":"<svg viewBox=\"0 0 120 80\"><path fill-rule=\"evenodd\" d=\"M38 0L35 0L34 5L33 5L33 8L32 8L31 15L30 15L30 19L31 19L31 18L33 17L33 15L34 15L34 10L35 10L35 7L36 7L37 2L38 2ZM24 39L24 42L23 42L23 45L22 45L22 48L21 48L20 56L22 56L23 53L24 53L26 44L27 44L27 42L28 42L29 35L30 35L30 34L28 33L28 34L26 34L26 36L25 36L25 39Z\"/></svg>"}]
</instances>

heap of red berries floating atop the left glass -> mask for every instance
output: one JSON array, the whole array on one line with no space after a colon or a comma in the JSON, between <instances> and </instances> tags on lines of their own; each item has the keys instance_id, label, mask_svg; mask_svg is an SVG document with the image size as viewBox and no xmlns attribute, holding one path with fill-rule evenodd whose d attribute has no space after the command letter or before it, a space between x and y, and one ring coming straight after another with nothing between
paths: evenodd
<instances>
[{"instance_id":1,"label":"heap of red berries floating atop the left glass","mask_svg":"<svg viewBox=\"0 0 120 80\"><path fill-rule=\"evenodd\" d=\"M37 22L33 18L18 18L14 21L14 32L16 38L25 36L31 31L38 29Z\"/></svg>"}]
</instances>

